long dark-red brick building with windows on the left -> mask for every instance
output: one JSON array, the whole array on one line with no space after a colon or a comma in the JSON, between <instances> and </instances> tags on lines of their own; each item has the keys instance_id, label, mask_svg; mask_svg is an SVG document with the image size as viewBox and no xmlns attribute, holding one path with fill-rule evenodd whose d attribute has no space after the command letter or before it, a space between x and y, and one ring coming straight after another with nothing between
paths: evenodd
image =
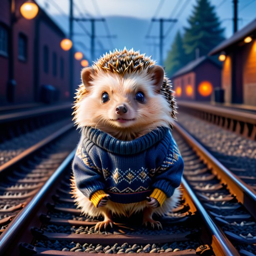
<instances>
[{"instance_id":1,"label":"long dark-red brick building with windows on the left","mask_svg":"<svg viewBox=\"0 0 256 256\"><path fill-rule=\"evenodd\" d=\"M7 99L10 77L10 2L0 3L0 105ZM64 32L42 10L36 18L26 20L20 7L24 0L16 0L16 21L13 24L13 73L16 86L12 104L40 101L42 85L53 86L58 100L70 100L69 52L60 48ZM80 82L80 61L74 59L74 87Z\"/></svg>"}]
</instances>

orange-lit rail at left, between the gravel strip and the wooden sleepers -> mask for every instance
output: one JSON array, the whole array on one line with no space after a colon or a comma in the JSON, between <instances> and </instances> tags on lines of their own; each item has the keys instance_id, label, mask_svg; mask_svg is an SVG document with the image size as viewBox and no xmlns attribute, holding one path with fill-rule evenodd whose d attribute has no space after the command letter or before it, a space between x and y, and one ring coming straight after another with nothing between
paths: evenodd
<instances>
[{"instance_id":1,"label":"orange-lit rail at left, between the gravel strip and the wooden sleepers","mask_svg":"<svg viewBox=\"0 0 256 256\"><path fill-rule=\"evenodd\" d=\"M13 157L12 159L10 159L10 161L8 161L8 162L6 162L6 163L4 163L3 165L0 166L0 173L4 172L9 167L17 164L19 161L21 161L22 159L28 157L30 154L36 152L38 149L41 149L43 146L47 145L48 143L50 143L54 139L58 138L63 133L71 130L73 127L74 127L73 123L65 125L64 127L60 128L55 133L52 133L50 136L44 138L42 141L39 141L37 144L34 144L30 148L26 149L21 154L18 154L18 156Z\"/></svg>"}]
</instances>

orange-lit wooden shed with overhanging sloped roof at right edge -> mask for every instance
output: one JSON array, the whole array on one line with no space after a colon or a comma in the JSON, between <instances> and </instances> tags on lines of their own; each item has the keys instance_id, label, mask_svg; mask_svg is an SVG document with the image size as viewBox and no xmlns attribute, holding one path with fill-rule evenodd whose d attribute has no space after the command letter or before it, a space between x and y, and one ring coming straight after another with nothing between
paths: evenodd
<instances>
[{"instance_id":1,"label":"orange-lit wooden shed with overhanging sloped roof at right edge","mask_svg":"<svg viewBox=\"0 0 256 256\"><path fill-rule=\"evenodd\" d=\"M256 105L256 19L215 47L223 60L225 102Z\"/></svg>"}]
</instances>

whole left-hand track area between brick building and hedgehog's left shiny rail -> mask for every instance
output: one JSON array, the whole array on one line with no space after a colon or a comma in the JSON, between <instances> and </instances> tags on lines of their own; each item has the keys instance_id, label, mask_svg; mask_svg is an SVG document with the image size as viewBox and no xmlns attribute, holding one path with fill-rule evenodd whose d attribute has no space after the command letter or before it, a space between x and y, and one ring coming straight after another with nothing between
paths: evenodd
<instances>
[{"instance_id":1,"label":"whole left-hand track area between brick building and hedgehog's left shiny rail","mask_svg":"<svg viewBox=\"0 0 256 256\"><path fill-rule=\"evenodd\" d=\"M0 116L3 132L12 134L0 144L0 237L76 146L67 112L70 104Z\"/></svg>"}]
</instances>

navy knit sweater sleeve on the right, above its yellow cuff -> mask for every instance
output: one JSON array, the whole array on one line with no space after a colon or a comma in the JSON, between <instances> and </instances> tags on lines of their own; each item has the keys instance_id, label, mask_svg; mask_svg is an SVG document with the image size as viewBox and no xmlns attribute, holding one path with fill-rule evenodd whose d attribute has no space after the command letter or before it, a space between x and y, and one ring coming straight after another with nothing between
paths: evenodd
<instances>
[{"instance_id":1,"label":"navy knit sweater sleeve on the right, above its yellow cuff","mask_svg":"<svg viewBox=\"0 0 256 256\"><path fill-rule=\"evenodd\" d=\"M154 176L154 183L152 188L162 191L167 198L171 197L175 188L181 183L181 177L183 173L184 163L180 155L178 146L176 145L171 134L169 134L170 143L166 156L162 165L157 170ZM160 195L163 197L163 195Z\"/></svg>"}]
</instances>

